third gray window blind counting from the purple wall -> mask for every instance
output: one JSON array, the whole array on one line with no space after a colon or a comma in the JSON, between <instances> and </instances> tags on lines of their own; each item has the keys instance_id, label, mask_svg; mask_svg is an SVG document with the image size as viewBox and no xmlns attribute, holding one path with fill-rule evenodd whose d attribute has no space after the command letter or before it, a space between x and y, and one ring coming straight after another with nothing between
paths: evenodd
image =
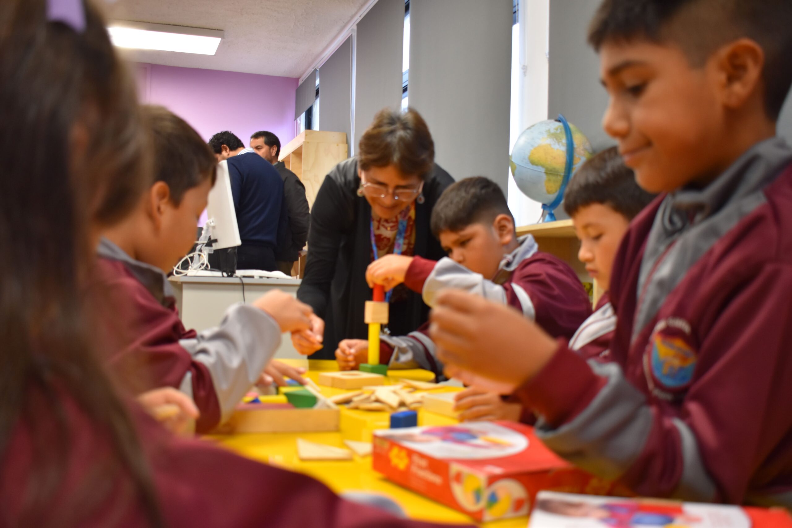
<instances>
[{"instance_id":1,"label":"third gray window blind counting from the purple wall","mask_svg":"<svg viewBox=\"0 0 792 528\"><path fill-rule=\"evenodd\" d=\"M375 113L402 105L404 0L378 0L358 22L356 38L355 151Z\"/></svg>"}]
</instances>

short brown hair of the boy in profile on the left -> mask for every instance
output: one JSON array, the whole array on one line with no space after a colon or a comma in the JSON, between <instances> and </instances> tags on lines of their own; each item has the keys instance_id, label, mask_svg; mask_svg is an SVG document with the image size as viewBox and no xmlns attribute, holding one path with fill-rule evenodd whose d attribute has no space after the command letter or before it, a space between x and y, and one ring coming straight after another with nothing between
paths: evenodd
<instances>
[{"instance_id":1,"label":"short brown hair of the boy in profile on the left","mask_svg":"<svg viewBox=\"0 0 792 528\"><path fill-rule=\"evenodd\" d=\"M185 192L211 179L215 183L217 160L198 132L162 106L143 105L154 143L154 182L170 188L170 201L178 206Z\"/></svg>"}]
</instances>

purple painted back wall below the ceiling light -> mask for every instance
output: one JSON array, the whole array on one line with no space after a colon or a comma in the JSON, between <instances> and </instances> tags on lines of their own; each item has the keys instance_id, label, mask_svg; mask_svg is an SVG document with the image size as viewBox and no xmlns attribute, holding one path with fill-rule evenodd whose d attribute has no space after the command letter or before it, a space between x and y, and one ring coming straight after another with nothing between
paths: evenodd
<instances>
[{"instance_id":1,"label":"purple painted back wall below the ceiling light","mask_svg":"<svg viewBox=\"0 0 792 528\"><path fill-rule=\"evenodd\" d=\"M275 133L285 145L295 137L299 79L234 71L135 64L140 100L162 104L208 140L230 130L245 146L255 131Z\"/></svg>"}]
</instances>

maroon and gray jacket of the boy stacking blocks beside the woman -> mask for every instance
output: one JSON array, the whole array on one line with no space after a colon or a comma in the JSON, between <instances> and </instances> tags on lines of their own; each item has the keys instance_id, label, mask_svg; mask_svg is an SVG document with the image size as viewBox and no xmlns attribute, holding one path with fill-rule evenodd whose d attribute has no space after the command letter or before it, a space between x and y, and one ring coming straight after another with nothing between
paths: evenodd
<instances>
[{"instance_id":1,"label":"maroon and gray jacket of the boy stacking blocks beside the woman","mask_svg":"<svg viewBox=\"0 0 792 528\"><path fill-rule=\"evenodd\" d=\"M428 306L434 306L437 292L447 287L508 304L555 337L572 336L592 312L588 294L572 268L539 251L531 235L520 237L519 247L501 260L493 280L447 256L438 261L417 256L409 265L405 284L420 292ZM428 336L428 324L406 336L383 334L381 340L386 345L383 362L390 361L390 367L422 368L442 376L443 365Z\"/></svg>"}]
</instances>

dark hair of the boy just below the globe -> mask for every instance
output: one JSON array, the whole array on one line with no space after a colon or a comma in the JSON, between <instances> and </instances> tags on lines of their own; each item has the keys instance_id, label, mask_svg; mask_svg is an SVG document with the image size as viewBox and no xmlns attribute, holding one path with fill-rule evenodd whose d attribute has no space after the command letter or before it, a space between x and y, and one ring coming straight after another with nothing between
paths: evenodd
<instances>
[{"instance_id":1,"label":"dark hair of the boy just below the globe","mask_svg":"<svg viewBox=\"0 0 792 528\"><path fill-rule=\"evenodd\" d=\"M564 192L564 211L575 215L581 208L601 203L632 220L654 195L635 183L632 169L624 165L615 146L603 150L577 169Z\"/></svg>"}]
</instances>

